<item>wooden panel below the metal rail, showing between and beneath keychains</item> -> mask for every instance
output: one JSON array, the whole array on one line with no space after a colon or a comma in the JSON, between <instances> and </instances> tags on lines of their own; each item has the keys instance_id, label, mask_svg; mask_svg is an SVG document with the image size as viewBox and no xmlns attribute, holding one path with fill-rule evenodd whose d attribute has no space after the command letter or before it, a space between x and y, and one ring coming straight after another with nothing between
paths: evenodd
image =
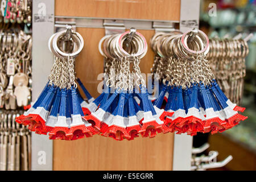
<instances>
[{"instance_id":1,"label":"wooden panel below the metal rail, showing between and beneath keychains","mask_svg":"<svg viewBox=\"0 0 256 182\"><path fill-rule=\"evenodd\" d=\"M85 46L76 59L77 77L95 98L97 75L103 71L103 57L98 42L105 35L102 28L77 28ZM138 30L149 40L154 31ZM154 53L148 48L141 60L142 73L149 73ZM171 170L173 134L158 134L155 138L136 138L132 141L115 141L112 138L93 136L76 141L55 140L53 143L54 170Z\"/></svg>"}]
</instances>

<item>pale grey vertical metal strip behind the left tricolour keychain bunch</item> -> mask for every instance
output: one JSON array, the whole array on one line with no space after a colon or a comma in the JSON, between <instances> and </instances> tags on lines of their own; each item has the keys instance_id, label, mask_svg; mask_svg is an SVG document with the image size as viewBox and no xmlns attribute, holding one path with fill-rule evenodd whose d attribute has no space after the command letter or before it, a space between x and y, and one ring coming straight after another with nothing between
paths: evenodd
<instances>
[{"instance_id":1,"label":"pale grey vertical metal strip behind the left tricolour keychain bunch","mask_svg":"<svg viewBox=\"0 0 256 182\"><path fill-rule=\"evenodd\" d=\"M54 32L54 5L52 0L33 1L32 28L32 101L35 101L48 81L53 64L48 50L48 39ZM53 142L46 135L32 133L31 169L52 170Z\"/></svg>"}]
</instances>

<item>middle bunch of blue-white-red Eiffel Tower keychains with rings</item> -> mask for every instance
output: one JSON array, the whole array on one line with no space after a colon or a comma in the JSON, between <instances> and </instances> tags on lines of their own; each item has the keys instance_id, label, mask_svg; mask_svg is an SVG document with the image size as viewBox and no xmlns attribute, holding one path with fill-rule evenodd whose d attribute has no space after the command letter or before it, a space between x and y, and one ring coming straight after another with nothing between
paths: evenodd
<instances>
[{"instance_id":1,"label":"middle bunch of blue-white-red Eiffel Tower keychains with rings","mask_svg":"<svg viewBox=\"0 0 256 182\"><path fill-rule=\"evenodd\" d=\"M132 140L168 132L164 112L152 105L139 63L146 54L146 39L134 28L106 35L99 44L105 56L104 88L88 107L85 119L104 137ZM162 120L161 120L162 119Z\"/></svg>"}]
</instances>

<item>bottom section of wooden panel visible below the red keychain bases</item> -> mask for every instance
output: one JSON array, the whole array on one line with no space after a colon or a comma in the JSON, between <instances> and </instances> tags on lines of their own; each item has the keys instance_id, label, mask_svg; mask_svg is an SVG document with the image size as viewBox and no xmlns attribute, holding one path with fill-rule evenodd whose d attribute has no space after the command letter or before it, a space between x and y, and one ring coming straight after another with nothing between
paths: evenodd
<instances>
[{"instance_id":1,"label":"bottom section of wooden panel visible below the red keychain bases","mask_svg":"<svg viewBox=\"0 0 256 182\"><path fill-rule=\"evenodd\" d=\"M93 136L58 140L53 147L53 170L171 170L172 134L133 141Z\"/></svg>"}]
</instances>

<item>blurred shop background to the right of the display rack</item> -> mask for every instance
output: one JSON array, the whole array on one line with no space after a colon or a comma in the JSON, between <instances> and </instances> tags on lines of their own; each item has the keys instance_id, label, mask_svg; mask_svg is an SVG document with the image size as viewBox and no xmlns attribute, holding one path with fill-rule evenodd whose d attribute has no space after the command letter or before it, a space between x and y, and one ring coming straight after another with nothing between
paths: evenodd
<instances>
[{"instance_id":1,"label":"blurred shop background to the right of the display rack","mask_svg":"<svg viewBox=\"0 0 256 182\"><path fill-rule=\"evenodd\" d=\"M212 11L216 5L216 16ZM210 170L256 170L256 1L247 0L201 0L200 30L208 34L209 38L233 38L242 34L243 38L253 33L249 41L249 55L246 57L246 77L243 90L243 112L248 119L240 125L218 134L197 134L193 137L193 147L200 147L208 142L210 147L204 152L218 151L218 161L228 155L233 160L225 167ZM201 154L200 154L201 155Z\"/></svg>"}]
</instances>

